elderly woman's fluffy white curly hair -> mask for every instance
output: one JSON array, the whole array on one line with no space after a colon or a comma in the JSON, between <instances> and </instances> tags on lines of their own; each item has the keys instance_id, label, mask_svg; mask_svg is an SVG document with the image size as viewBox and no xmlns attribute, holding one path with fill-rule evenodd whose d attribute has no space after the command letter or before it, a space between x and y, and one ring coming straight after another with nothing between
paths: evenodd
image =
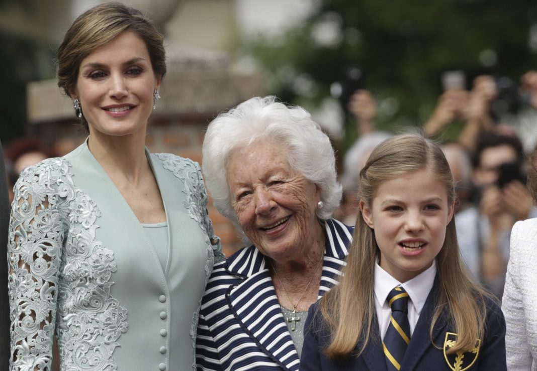
<instances>
[{"instance_id":1,"label":"elderly woman's fluffy white curly hair","mask_svg":"<svg viewBox=\"0 0 537 371\"><path fill-rule=\"evenodd\" d=\"M251 98L209 124L202 147L202 169L216 210L238 226L227 182L228 158L234 150L255 142L280 146L289 165L320 187L324 206L317 209L317 217L332 216L341 201L342 187L337 182L330 139L305 109L286 106L273 96Z\"/></svg>"}]
</instances>

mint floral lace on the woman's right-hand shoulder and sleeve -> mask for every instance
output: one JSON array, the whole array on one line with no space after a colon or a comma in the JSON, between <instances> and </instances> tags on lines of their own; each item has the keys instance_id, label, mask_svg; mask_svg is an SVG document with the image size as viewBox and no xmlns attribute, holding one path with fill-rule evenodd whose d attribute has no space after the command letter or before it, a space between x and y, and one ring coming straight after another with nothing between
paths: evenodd
<instances>
[{"instance_id":1,"label":"mint floral lace on the woman's right-hand shoulder and sleeve","mask_svg":"<svg viewBox=\"0 0 537 371\"><path fill-rule=\"evenodd\" d=\"M190 159L184 159L169 153L158 153L156 155L162 161L162 165L165 169L170 170L173 175L183 181L184 188L182 192L186 196L184 206L188 210L188 215L197 221L202 231L205 232L205 242L207 244L205 284L207 284L207 280L211 275L215 261L220 261L223 259L224 255L222 254L220 239L213 236L213 224L211 219L209 219L209 214L207 212L209 198L205 191L203 179L201 178L201 169L196 162ZM211 239L214 241L211 241ZM201 306L201 298L198 303L198 310L192 317L192 326L190 329L190 337L192 339L192 348L194 351L196 330L198 328L199 306ZM192 367L195 368L195 365L192 365Z\"/></svg>"}]
</instances>

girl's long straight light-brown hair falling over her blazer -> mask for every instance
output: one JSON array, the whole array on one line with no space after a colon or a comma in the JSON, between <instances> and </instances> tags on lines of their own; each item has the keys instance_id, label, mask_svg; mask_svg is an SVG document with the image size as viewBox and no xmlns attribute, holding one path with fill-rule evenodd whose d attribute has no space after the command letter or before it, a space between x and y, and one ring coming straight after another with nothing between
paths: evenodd
<instances>
[{"instance_id":1,"label":"girl's long straight light-brown hair falling over her blazer","mask_svg":"<svg viewBox=\"0 0 537 371\"><path fill-rule=\"evenodd\" d=\"M420 169L430 170L445 184L448 203L453 203L453 176L444 153L436 143L420 135L396 136L375 148L360 171L359 198L371 206L382 182ZM374 231L359 213L340 284L321 299L320 313L332 334L325 350L330 358L358 356L369 342L376 316L373 277L378 254ZM485 297L489 295L474 283L461 261L454 218L447 225L446 239L436 262L440 289L431 323L431 342L434 324L447 308L459 334L448 353L472 350L476 339L483 338ZM353 354L359 340L361 347L358 354Z\"/></svg>"}]
</instances>

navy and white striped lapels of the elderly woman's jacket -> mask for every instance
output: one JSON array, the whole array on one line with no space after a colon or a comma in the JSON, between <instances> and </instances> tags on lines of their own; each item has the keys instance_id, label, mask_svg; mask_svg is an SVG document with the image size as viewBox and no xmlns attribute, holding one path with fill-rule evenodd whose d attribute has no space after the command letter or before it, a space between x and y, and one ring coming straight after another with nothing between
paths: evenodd
<instances>
[{"instance_id":1,"label":"navy and white striped lapels of the elderly woman's jacket","mask_svg":"<svg viewBox=\"0 0 537 371\"><path fill-rule=\"evenodd\" d=\"M326 244L319 298L336 283L352 238L352 228L339 221L329 219L324 224ZM226 294L241 328L282 368L298 370L300 360L281 313L265 256L251 246L228 259L226 270L244 277Z\"/></svg>"}]
</instances>

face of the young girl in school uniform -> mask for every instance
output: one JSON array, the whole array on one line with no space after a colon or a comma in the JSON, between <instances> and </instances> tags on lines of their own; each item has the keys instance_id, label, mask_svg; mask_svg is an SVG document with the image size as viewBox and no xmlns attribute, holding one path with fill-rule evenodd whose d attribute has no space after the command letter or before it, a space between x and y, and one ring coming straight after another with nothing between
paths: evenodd
<instances>
[{"instance_id":1,"label":"face of the young girl in school uniform","mask_svg":"<svg viewBox=\"0 0 537 371\"><path fill-rule=\"evenodd\" d=\"M360 201L381 268L402 283L429 268L444 244L453 208L444 183L426 169L382 182L371 206Z\"/></svg>"}]
</instances>

